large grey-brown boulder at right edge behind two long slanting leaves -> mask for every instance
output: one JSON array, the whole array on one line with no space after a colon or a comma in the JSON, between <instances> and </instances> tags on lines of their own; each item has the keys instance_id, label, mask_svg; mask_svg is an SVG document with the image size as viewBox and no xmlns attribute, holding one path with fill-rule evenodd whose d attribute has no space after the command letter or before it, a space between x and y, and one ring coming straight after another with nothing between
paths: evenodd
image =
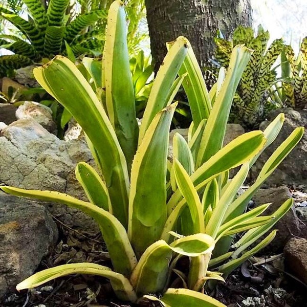
<instances>
[{"instance_id":1,"label":"large grey-brown boulder at right edge behind two long slanting leaves","mask_svg":"<svg viewBox=\"0 0 307 307\"><path fill-rule=\"evenodd\" d=\"M268 121L260 124L264 130L269 123L280 113L274 110L268 115ZM286 116L283 127L276 140L261 154L251 169L251 178L255 180L264 163L272 155L273 151L299 126L307 127L307 110L294 111L292 108L283 109ZM286 184L307 185L307 132L293 149L290 155L278 166L266 183L270 186Z\"/></svg>"}]
</instances>

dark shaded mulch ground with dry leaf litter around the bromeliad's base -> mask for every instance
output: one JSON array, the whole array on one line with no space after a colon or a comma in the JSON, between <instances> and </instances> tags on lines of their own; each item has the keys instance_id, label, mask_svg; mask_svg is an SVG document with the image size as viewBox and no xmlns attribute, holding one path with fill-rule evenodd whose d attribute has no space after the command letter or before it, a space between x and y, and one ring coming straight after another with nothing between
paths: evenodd
<instances>
[{"instance_id":1,"label":"dark shaded mulch ground with dry leaf litter around the bromeliad's base","mask_svg":"<svg viewBox=\"0 0 307 307\"><path fill-rule=\"evenodd\" d=\"M301 197L295 195L296 202ZM68 262L94 262L110 266L100 235L78 232L60 223L60 242L43 259L38 270ZM234 271L226 283L207 293L228 307L307 307L307 286L287 272L283 255L258 256ZM183 266L185 266L183 261ZM174 281L176 282L176 280ZM179 287L181 287L179 285ZM106 279L90 275L58 278L35 290L18 293L12 289L2 307L134 307L123 303L115 295ZM138 306L160 306L159 303L141 302ZM187 306L188 307L188 306Z\"/></svg>"}]
</instances>

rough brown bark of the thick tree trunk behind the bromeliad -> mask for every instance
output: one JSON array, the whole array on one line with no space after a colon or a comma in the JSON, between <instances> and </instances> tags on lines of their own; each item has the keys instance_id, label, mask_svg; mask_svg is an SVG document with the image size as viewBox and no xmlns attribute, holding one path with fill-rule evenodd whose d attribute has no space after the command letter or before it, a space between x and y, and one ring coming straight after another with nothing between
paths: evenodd
<instances>
[{"instance_id":1,"label":"rough brown bark of the thick tree trunk behind the bromeliad","mask_svg":"<svg viewBox=\"0 0 307 307\"><path fill-rule=\"evenodd\" d=\"M201 67L209 65L213 37L219 29L230 38L238 25L251 26L250 0L145 0L152 58L156 68L166 54L165 42L187 37Z\"/></svg>"}]
</instances>

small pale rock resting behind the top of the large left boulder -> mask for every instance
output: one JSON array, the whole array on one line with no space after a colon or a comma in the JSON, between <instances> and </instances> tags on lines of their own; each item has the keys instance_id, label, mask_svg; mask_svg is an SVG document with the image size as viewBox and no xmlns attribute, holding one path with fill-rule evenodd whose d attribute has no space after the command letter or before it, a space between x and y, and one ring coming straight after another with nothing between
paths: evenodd
<instances>
[{"instance_id":1,"label":"small pale rock resting behind the top of the large left boulder","mask_svg":"<svg viewBox=\"0 0 307 307\"><path fill-rule=\"evenodd\" d=\"M56 134L56 123L48 106L34 101L25 101L16 111L17 119L34 119L50 133Z\"/></svg>"}]
</instances>

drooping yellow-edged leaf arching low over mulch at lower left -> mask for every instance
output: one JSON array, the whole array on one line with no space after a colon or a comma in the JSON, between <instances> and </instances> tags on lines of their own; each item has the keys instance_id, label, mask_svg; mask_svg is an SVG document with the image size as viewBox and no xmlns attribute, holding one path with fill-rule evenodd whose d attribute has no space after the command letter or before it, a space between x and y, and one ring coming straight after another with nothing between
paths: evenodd
<instances>
[{"instance_id":1,"label":"drooping yellow-edged leaf arching low over mulch at lower left","mask_svg":"<svg viewBox=\"0 0 307 307\"><path fill-rule=\"evenodd\" d=\"M129 301L135 301L137 299L133 287L125 276L113 272L108 267L91 264L89 262L62 265L40 271L18 283L16 289L20 291L28 288L36 288L49 280L72 274L91 274L105 277L110 280L112 288L119 299Z\"/></svg>"}]
</instances>

